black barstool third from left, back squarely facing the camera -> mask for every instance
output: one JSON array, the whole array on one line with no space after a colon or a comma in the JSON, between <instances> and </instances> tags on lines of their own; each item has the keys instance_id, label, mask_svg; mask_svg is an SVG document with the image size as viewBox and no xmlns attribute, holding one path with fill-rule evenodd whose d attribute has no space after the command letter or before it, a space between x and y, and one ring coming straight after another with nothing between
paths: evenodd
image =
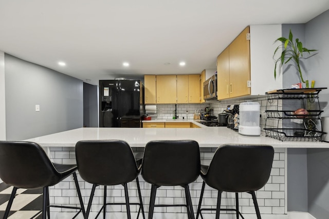
<instances>
[{"instance_id":1,"label":"black barstool third from left, back squarely facing the camera","mask_svg":"<svg viewBox=\"0 0 329 219\"><path fill-rule=\"evenodd\" d=\"M154 207L185 206L188 217L194 219L189 184L200 171L199 145L195 141L151 141L145 146L142 176L152 184L149 219ZM155 205L156 190L160 186L182 186L186 205Z\"/></svg>"}]
</instances>

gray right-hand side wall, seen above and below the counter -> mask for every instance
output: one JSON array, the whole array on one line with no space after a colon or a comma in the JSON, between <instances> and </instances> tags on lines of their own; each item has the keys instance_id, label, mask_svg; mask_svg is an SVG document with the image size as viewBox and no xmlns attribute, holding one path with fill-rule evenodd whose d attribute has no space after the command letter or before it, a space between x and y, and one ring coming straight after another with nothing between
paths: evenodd
<instances>
[{"instance_id":1,"label":"gray right-hand side wall, seen above and below the counter","mask_svg":"<svg viewBox=\"0 0 329 219\"><path fill-rule=\"evenodd\" d=\"M319 53L307 59L307 71L315 80L315 87L328 87L329 81L329 11L306 24L306 45ZM322 116L329 116L329 90L320 93ZM317 219L329 215L329 150L307 149L308 212Z\"/></svg>"}]
</instances>

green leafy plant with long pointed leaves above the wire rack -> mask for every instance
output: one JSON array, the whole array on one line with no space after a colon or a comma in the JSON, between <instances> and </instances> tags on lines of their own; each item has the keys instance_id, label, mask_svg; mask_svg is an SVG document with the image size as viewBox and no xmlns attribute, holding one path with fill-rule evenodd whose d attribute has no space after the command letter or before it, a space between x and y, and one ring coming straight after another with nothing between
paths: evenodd
<instances>
[{"instance_id":1,"label":"green leafy plant with long pointed leaves above the wire rack","mask_svg":"<svg viewBox=\"0 0 329 219\"><path fill-rule=\"evenodd\" d=\"M303 52L314 52L317 51L316 49L306 49L303 47L302 42L299 41L298 38L293 40L293 33L291 33L291 29L289 31L289 38L280 37L275 42L282 42L282 45L278 46L277 49L274 52L273 58L278 52L280 48L282 48L281 56L276 59L276 64L274 67L274 78L277 77L277 64L278 62L281 63L281 65L288 63L290 60L292 60L296 65L295 67L298 70L300 79L302 83L306 83L306 88L308 88L308 81L304 81L302 71L300 69L300 58L303 57Z\"/></svg>"}]
</instances>

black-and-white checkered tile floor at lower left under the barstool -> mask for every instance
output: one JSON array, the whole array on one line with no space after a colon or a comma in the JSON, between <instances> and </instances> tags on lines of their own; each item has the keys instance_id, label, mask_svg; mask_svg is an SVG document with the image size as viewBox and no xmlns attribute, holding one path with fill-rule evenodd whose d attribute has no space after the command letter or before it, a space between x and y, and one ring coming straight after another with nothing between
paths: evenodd
<instances>
[{"instance_id":1,"label":"black-and-white checkered tile floor at lower left under the barstool","mask_svg":"<svg viewBox=\"0 0 329 219\"><path fill-rule=\"evenodd\" d=\"M0 218L3 218L12 187L0 183ZM8 219L30 218L42 209L41 189L17 189ZM35 218L41 218L41 214Z\"/></svg>"}]
</instances>

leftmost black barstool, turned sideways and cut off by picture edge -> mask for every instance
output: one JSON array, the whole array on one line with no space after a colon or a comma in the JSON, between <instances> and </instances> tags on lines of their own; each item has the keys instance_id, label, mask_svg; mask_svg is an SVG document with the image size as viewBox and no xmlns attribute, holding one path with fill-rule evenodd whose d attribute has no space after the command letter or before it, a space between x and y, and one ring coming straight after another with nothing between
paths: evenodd
<instances>
[{"instance_id":1,"label":"leftmost black barstool, turned sideways and cut off by picture edge","mask_svg":"<svg viewBox=\"0 0 329 219\"><path fill-rule=\"evenodd\" d=\"M76 170L77 165L75 164L52 163L45 151L36 143L0 141L0 178L6 184L14 187L4 218L8 217L17 188L43 188L43 219L46 219L47 215L50 218L49 207L78 209L79 211L73 218L81 211L85 215ZM71 174L77 187L81 207L49 205L49 186L58 184Z\"/></svg>"}]
</instances>

